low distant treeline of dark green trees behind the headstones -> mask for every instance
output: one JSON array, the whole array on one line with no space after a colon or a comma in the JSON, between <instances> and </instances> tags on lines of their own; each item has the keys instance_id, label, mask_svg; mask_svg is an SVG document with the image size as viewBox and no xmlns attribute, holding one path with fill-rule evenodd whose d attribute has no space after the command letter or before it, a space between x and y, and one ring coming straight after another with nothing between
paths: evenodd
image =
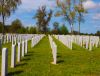
<instances>
[{"instance_id":1,"label":"low distant treeline of dark green trees behind the headstones","mask_svg":"<svg viewBox=\"0 0 100 76\"><path fill-rule=\"evenodd\" d=\"M0 33L2 33L2 23L0 22ZM47 32L38 31L37 26L28 26L24 27L19 19L14 20L11 25L4 26L4 33L20 33L20 34L71 34L69 33L67 27L63 24L59 26L58 22L54 22L53 29L48 28ZM100 36L100 31L97 31L95 34L91 33L79 33L78 31L73 31L74 35L97 35Z\"/></svg>"}]
</instances>

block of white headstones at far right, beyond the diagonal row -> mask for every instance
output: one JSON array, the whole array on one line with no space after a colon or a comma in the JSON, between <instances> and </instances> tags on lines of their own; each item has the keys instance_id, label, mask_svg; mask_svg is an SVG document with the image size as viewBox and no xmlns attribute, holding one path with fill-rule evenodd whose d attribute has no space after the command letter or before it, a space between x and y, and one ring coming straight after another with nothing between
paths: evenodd
<instances>
[{"instance_id":1,"label":"block of white headstones at far right, beyond the diagonal row","mask_svg":"<svg viewBox=\"0 0 100 76\"><path fill-rule=\"evenodd\" d=\"M73 35L73 42L80 45L83 48L86 48L88 50L92 50L93 47L99 47L100 39L98 36L79 36Z\"/></svg>"}]
</instances>

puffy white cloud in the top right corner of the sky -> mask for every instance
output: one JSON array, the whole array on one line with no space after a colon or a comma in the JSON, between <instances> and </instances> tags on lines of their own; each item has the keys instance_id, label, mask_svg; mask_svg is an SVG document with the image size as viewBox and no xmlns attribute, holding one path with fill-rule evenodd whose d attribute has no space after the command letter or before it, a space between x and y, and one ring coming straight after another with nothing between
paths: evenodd
<instances>
[{"instance_id":1,"label":"puffy white cloud in the top right corner of the sky","mask_svg":"<svg viewBox=\"0 0 100 76\"><path fill-rule=\"evenodd\" d=\"M86 0L83 3L83 6L84 6L85 9L99 8L100 3L95 3L93 0Z\"/></svg>"}]
</instances>

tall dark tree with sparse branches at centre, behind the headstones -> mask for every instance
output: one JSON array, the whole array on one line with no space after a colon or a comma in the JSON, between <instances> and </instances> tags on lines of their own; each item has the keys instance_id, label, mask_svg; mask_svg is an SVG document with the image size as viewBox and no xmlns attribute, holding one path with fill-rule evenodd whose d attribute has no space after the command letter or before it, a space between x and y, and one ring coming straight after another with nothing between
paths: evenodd
<instances>
[{"instance_id":1,"label":"tall dark tree with sparse branches at centre, behind the headstones","mask_svg":"<svg viewBox=\"0 0 100 76\"><path fill-rule=\"evenodd\" d=\"M42 6L37 10L37 13L34 18L37 20L37 26L39 32L43 33L47 32L51 17L52 17L52 10L50 10L49 12L46 11L45 6Z\"/></svg>"}]
</instances>

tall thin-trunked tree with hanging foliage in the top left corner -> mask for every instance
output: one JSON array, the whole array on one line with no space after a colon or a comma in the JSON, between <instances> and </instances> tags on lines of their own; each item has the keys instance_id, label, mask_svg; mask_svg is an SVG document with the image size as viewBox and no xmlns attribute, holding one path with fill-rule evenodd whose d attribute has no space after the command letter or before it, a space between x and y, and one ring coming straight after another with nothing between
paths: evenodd
<instances>
[{"instance_id":1,"label":"tall thin-trunked tree with hanging foliage in the top left corner","mask_svg":"<svg viewBox=\"0 0 100 76\"><path fill-rule=\"evenodd\" d=\"M4 33L5 20L14 12L21 0L0 0L0 16L2 18L2 33Z\"/></svg>"}]
</instances>

